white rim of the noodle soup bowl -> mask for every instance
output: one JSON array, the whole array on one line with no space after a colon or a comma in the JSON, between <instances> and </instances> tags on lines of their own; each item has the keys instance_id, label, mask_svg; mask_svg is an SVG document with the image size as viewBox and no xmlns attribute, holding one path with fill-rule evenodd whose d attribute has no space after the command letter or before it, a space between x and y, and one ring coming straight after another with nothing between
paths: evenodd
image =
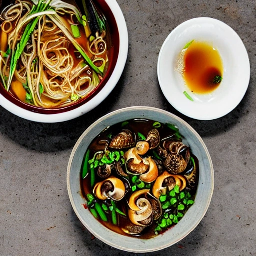
<instances>
[{"instance_id":1,"label":"white rim of the noodle soup bowl","mask_svg":"<svg viewBox=\"0 0 256 256\"><path fill-rule=\"evenodd\" d=\"M85 99L85 102L81 103L81 105L77 104L77 107L75 105L70 105L70 110L60 110L57 111L57 113L40 113L38 112L40 111L40 108L27 110L19 105L16 105L15 103L9 101L3 95L3 92L3 94L0 93L0 105L2 107L4 107L6 110L13 114L30 121L57 123L79 117L91 111L93 108L98 106L103 100L106 99L106 97L111 93L111 91L114 89L117 82L119 81L126 64L128 56L128 29L122 10L116 0L98 0L98 3L104 3L108 5L108 8L112 12L112 15L116 22L116 29L119 34L119 50L112 74L107 77L108 80L106 81L105 85L100 88L98 92L95 92L95 96L93 96L88 101L86 101Z\"/></svg>"}]
</instances>

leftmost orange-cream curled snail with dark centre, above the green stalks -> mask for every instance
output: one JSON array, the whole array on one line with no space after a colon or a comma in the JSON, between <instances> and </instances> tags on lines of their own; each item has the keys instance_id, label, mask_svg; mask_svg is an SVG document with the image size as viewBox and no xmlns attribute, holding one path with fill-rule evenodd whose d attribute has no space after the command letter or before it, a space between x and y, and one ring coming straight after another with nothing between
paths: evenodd
<instances>
[{"instance_id":1,"label":"leftmost orange-cream curled snail with dark centre, above the green stalks","mask_svg":"<svg viewBox=\"0 0 256 256\"><path fill-rule=\"evenodd\" d=\"M112 176L96 183L93 193L100 200L111 198L114 201L119 201L124 197L126 189L124 183L119 178Z\"/></svg>"}]
</instances>

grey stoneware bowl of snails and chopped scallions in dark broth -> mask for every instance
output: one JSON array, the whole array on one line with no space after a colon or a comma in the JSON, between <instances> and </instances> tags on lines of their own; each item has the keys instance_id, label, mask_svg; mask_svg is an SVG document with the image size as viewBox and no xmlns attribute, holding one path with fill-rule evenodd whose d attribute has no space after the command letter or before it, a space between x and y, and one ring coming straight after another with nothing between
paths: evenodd
<instances>
[{"instance_id":1,"label":"grey stoneware bowl of snails and chopped scallions in dark broth","mask_svg":"<svg viewBox=\"0 0 256 256\"><path fill-rule=\"evenodd\" d=\"M176 164L185 159L181 154L188 160L183 167ZM211 157L199 134L179 117L147 106L118 109L95 121L77 140L67 166L67 191L81 223L104 243L135 253L185 238L206 214L213 189Z\"/></svg>"}]
</instances>

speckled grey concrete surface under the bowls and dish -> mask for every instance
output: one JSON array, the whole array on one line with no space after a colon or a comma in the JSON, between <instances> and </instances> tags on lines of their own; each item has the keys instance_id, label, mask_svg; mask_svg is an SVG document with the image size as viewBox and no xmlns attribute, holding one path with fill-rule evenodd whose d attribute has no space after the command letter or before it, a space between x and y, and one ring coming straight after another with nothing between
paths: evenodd
<instances>
[{"instance_id":1,"label":"speckled grey concrete surface under the bowls and dish","mask_svg":"<svg viewBox=\"0 0 256 256\"><path fill-rule=\"evenodd\" d=\"M150 255L256 255L255 1L117 2L127 21L129 54L120 81L100 106L57 124L27 121L0 107L0 255L130 254L94 239L83 228L69 202L66 168L72 146L93 121L134 105L162 108L186 120L204 139L215 169L213 198L198 227L178 244ZM156 73L169 32L199 16L230 25L243 40L251 64L242 102L212 121L193 120L173 109Z\"/></svg>"}]
</instances>

